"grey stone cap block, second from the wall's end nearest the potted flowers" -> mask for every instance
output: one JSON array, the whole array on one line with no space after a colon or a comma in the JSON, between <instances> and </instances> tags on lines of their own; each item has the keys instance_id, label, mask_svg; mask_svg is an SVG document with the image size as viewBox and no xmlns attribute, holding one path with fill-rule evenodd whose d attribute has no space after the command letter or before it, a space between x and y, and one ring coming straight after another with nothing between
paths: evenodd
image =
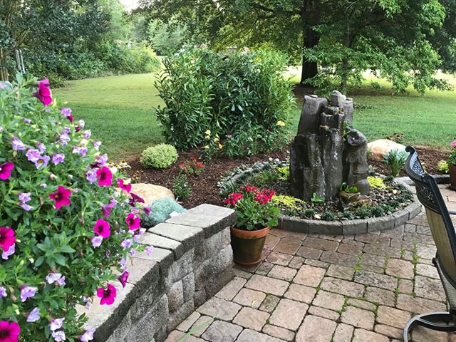
<instances>
[{"instance_id":1,"label":"grey stone cap block, second from the wall's end nearest the potted flowers","mask_svg":"<svg viewBox=\"0 0 456 342\"><path fill-rule=\"evenodd\" d=\"M202 239L204 239L204 232L201 228L180 224L160 223L150 228L149 232L181 242L185 247L185 252L202 244Z\"/></svg>"}]
</instances>

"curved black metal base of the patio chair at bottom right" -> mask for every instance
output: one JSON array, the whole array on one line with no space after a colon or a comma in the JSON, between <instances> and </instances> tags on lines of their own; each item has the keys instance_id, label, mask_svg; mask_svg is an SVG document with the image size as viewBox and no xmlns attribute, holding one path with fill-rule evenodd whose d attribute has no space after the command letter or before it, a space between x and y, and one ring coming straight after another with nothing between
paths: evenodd
<instances>
[{"instance_id":1,"label":"curved black metal base of the patio chair at bottom right","mask_svg":"<svg viewBox=\"0 0 456 342\"><path fill-rule=\"evenodd\" d=\"M424 326L437 331L456 331L456 316L450 312L433 312L413 317L404 328L404 342L408 342L408 333L414 326Z\"/></svg>"}]
</instances>

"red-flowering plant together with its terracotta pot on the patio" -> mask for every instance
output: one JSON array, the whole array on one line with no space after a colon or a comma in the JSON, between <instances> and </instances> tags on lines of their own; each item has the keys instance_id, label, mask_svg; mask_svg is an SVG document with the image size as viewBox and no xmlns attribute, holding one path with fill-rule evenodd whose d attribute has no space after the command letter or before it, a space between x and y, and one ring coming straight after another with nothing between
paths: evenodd
<instances>
[{"instance_id":1,"label":"red-flowering plant together with its terracotta pot on the patio","mask_svg":"<svg viewBox=\"0 0 456 342\"><path fill-rule=\"evenodd\" d=\"M280 210L271 202L274 190L241 187L224 200L237 213L237 222L231 228L231 245L234 262L252 266L261 261L269 228L279 224Z\"/></svg>"}]
</instances>

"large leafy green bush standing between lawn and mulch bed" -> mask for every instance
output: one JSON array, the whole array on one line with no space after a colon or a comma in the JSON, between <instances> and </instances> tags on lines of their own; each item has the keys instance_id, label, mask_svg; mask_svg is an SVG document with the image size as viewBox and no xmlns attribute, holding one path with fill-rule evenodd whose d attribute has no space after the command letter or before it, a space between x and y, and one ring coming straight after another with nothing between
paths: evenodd
<instances>
[{"instance_id":1,"label":"large leafy green bush standing between lawn and mulch bed","mask_svg":"<svg viewBox=\"0 0 456 342\"><path fill-rule=\"evenodd\" d=\"M210 138L217 146L225 145L222 152L235 156L271 150L283 142L294 105L283 77L284 54L191 49L164 64L156 86L166 107L157 108L156 115L177 148L208 146Z\"/></svg>"}]
</instances>

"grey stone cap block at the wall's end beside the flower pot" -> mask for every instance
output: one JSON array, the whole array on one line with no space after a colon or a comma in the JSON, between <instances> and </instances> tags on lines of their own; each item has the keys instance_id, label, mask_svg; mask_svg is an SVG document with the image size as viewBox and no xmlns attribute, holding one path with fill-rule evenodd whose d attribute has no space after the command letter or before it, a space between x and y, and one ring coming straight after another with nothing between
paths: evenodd
<instances>
[{"instance_id":1,"label":"grey stone cap block at the wall's end beside the flower pot","mask_svg":"<svg viewBox=\"0 0 456 342\"><path fill-rule=\"evenodd\" d=\"M204 230L204 237L211 237L236 222L233 209L212 204L201 204L180 215L171 217L167 223L198 227Z\"/></svg>"}]
</instances>

